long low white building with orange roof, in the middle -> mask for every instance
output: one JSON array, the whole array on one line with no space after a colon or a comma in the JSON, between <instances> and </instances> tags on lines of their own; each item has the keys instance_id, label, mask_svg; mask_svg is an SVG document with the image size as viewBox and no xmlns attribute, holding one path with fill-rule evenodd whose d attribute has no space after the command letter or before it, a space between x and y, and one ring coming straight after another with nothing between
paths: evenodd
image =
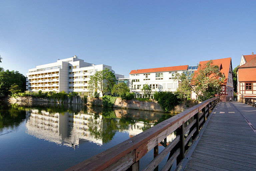
<instances>
[{"instance_id":1,"label":"long low white building with orange roof, in the middle","mask_svg":"<svg viewBox=\"0 0 256 171\"><path fill-rule=\"evenodd\" d=\"M174 92L179 84L179 81L174 79L176 74L184 73L189 77L196 70L197 66L188 65L132 70L130 72L130 89L136 94L136 97L144 97L142 88L143 85L147 84L152 91L150 98L153 98L154 92Z\"/></svg>"}]
</instances>

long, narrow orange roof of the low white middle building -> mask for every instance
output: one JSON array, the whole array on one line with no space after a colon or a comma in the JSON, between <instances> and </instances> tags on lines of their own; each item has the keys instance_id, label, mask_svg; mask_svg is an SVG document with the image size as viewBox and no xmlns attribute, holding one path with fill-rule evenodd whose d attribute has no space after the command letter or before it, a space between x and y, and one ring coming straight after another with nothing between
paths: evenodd
<instances>
[{"instance_id":1,"label":"long, narrow orange roof of the low white middle building","mask_svg":"<svg viewBox=\"0 0 256 171\"><path fill-rule=\"evenodd\" d=\"M188 69L188 65L182 65L182 66L162 67L162 68L137 69L137 70L132 70L130 74L168 72L168 71L179 71L179 70L187 70L187 69Z\"/></svg>"}]
</instances>

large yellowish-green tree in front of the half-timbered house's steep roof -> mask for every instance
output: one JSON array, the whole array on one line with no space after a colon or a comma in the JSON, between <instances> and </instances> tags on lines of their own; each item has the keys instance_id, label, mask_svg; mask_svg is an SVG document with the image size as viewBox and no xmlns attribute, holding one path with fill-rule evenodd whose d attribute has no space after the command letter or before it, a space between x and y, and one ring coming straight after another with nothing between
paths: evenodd
<instances>
[{"instance_id":1,"label":"large yellowish-green tree in front of the half-timbered house's steep roof","mask_svg":"<svg viewBox=\"0 0 256 171\"><path fill-rule=\"evenodd\" d=\"M224 82L225 76L220 72L218 65L212 65L212 60L204 64L198 65L198 72L192 78L191 87L197 94L200 101L210 99L221 92L221 84Z\"/></svg>"}]
</instances>

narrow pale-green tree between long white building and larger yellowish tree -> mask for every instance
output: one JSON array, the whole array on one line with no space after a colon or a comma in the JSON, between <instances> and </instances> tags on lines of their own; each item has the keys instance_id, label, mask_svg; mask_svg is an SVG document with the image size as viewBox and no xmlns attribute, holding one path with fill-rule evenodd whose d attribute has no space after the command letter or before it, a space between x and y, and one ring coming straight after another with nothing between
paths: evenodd
<instances>
[{"instance_id":1,"label":"narrow pale-green tree between long white building and larger yellowish tree","mask_svg":"<svg viewBox=\"0 0 256 171\"><path fill-rule=\"evenodd\" d=\"M191 76L193 77L193 75ZM190 98L192 87L191 87L191 77L187 77L184 73L175 75L174 80L179 81L179 86L177 88L177 93L179 94L180 98L186 99Z\"/></svg>"}]
</instances>

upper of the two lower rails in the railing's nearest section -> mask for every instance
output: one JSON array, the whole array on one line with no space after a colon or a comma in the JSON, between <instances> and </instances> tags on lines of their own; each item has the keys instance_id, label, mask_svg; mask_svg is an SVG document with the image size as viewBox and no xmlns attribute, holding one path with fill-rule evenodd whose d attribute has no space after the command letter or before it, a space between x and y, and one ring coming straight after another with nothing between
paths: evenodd
<instances>
[{"instance_id":1,"label":"upper of the two lower rails in the railing's nearest section","mask_svg":"<svg viewBox=\"0 0 256 171\"><path fill-rule=\"evenodd\" d=\"M154 158L142 171L152 171L159 165L159 163L165 158L165 156L178 144L180 141L180 135L178 135L163 151L161 151L156 158Z\"/></svg>"}]
</instances>

